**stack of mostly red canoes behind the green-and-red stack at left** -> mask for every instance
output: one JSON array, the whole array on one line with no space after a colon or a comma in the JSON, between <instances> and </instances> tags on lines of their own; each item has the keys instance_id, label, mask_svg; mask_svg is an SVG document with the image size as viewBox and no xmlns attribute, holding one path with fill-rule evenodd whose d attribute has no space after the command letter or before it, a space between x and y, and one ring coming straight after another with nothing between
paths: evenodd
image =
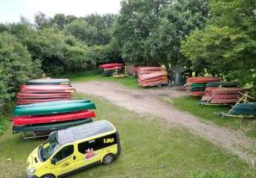
<instances>
[{"instance_id":1,"label":"stack of mostly red canoes behind the green-and-red stack at left","mask_svg":"<svg viewBox=\"0 0 256 178\"><path fill-rule=\"evenodd\" d=\"M37 102L53 102L71 99L75 91L69 79L33 79L20 87L16 104L25 105Z\"/></svg>"}]
</instances>

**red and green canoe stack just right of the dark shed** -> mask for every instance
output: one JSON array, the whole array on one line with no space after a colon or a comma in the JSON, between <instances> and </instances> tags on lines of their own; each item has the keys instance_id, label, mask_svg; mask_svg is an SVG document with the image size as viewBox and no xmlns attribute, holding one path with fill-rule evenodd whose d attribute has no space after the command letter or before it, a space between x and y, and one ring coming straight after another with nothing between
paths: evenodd
<instances>
[{"instance_id":1,"label":"red and green canoe stack just right of the dark shed","mask_svg":"<svg viewBox=\"0 0 256 178\"><path fill-rule=\"evenodd\" d=\"M220 78L215 76L189 77L184 85L186 93L190 96L203 96L206 93L206 85L209 82L220 82Z\"/></svg>"}]
</instances>

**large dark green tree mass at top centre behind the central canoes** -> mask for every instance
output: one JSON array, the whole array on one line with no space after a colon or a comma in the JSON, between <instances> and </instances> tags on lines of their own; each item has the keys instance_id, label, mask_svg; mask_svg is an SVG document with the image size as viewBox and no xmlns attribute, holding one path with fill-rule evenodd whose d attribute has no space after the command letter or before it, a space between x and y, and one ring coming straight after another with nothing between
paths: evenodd
<instances>
[{"instance_id":1,"label":"large dark green tree mass at top centre behind the central canoes","mask_svg":"<svg viewBox=\"0 0 256 178\"><path fill-rule=\"evenodd\" d=\"M208 0L122 1L114 38L122 57L135 65L186 65L181 41L208 16Z\"/></svg>"}]
</instances>

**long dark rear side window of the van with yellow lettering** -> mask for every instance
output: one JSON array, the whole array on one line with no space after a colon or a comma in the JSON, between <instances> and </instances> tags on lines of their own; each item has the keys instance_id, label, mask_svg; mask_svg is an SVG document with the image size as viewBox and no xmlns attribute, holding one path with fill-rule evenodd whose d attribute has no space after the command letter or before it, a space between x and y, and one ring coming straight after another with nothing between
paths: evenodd
<instances>
[{"instance_id":1,"label":"long dark rear side window of the van with yellow lettering","mask_svg":"<svg viewBox=\"0 0 256 178\"><path fill-rule=\"evenodd\" d=\"M88 142L81 142L78 144L78 151L81 154L85 154L88 148L93 148L93 151L96 151L114 144L116 144L116 133L92 139Z\"/></svg>"}]
</instances>

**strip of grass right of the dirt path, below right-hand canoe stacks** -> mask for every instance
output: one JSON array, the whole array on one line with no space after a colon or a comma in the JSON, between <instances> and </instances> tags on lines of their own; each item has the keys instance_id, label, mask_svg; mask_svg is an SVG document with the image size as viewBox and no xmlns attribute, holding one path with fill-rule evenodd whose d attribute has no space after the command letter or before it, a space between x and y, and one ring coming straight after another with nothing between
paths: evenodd
<instances>
[{"instance_id":1,"label":"strip of grass right of the dirt path, below right-hand canoe stacks","mask_svg":"<svg viewBox=\"0 0 256 178\"><path fill-rule=\"evenodd\" d=\"M240 119L240 118L224 118L217 116L214 113L227 113L231 108L225 105L199 105L200 99L194 97L180 97L169 99L172 105L176 106L181 111L188 111L200 119L205 119L232 129L241 129L246 133L246 136L256 137L256 121L255 119Z\"/></svg>"}]
</instances>

